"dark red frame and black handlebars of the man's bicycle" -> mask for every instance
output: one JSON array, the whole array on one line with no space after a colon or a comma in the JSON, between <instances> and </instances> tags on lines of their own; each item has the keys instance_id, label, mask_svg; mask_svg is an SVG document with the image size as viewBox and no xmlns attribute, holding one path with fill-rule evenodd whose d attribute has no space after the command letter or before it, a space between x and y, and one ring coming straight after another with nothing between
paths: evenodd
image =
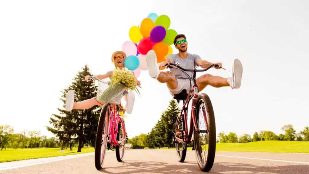
<instances>
[{"instance_id":1,"label":"dark red frame and black handlebars of the man's bicycle","mask_svg":"<svg viewBox=\"0 0 309 174\"><path fill-rule=\"evenodd\" d=\"M170 65L174 65L173 63L169 63L167 64L167 66L171 67ZM197 84L196 84L196 72L203 72L203 71L207 71L209 70L211 67L214 67L214 66L218 66L218 65L210 65L209 67L207 67L206 69L204 70L187 70L187 69L184 69L182 67L180 67L179 65L176 65L174 66L174 68L176 69L179 69L181 71L191 71L193 72L193 82L194 82L194 85L193 85L193 89L190 90L189 94L188 94L188 97L186 99L184 103L184 106L181 108L181 111L180 111L180 115L182 112L184 112L184 125L185 125L185 131L184 131L184 134L185 134L185 139L180 139L178 137L175 137L175 139L181 143L184 143L185 142L188 142L188 143L191 143L191 138L192 138L192 135L193 135L193 126L194 126L194 130L195 131L198 131L198 128L197 128L197 124L196 124L196 120L195 120L195 113L196 113L196 108L195 108L195 104L197 102L197 98L199 96L199 90L197 88ZM222 67L221 67L222 68ZM188 122L187 122L187 116L188 116L188 106L189 106L189 102L190 100L193 99L192 101L192 105L191 105L191 120L190 120L190 130L188 132ZM204 115L204 119L207 120L206 118L206 111L205 109L203 110L203 115ZM176 123L176 128L178 126L179 122ZM208 123L206 122L206 128L208 130ZM180 135L182 134L182 132L176 132L176 135Z\"/></svg>"}]
</instances>

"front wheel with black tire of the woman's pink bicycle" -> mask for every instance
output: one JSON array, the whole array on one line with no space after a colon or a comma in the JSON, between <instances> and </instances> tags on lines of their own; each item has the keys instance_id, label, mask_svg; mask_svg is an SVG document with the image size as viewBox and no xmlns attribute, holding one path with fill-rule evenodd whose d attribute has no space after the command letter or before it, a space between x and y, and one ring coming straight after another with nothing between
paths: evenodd
<instances>
[{"instance_id":1,"label":"front wheel with black tire of the woman's pink bicycle","mask_svg":"<svg viewBox=\"0 0 309 174\"><path fill-rule=\"evenodd\" d=\"M103 136L103 131L105 132L107 130L105 133L106 134L108 133L108 122L109 122L109 104L105 104L102 107L102 110L100 113L97 133L95 137L95 168L97 170L100 170L101 168L103 168L103 164L104 164L108 136L103 138L103 142L102 142L102 136ZM103 127L104 127L104 130L103 130ZM102 152L102 149L104 150L104 152ZM104 153L103 156L101 156L102 153ZM103 158L102 161L101 161L101 158Z\"/></svg>"}]
</instances>

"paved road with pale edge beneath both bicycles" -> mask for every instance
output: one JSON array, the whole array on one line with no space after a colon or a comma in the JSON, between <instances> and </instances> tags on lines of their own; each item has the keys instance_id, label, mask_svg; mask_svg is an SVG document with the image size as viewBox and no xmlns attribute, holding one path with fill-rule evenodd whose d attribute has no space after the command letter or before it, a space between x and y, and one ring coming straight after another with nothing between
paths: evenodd
<instances>
[{"instance_id":1,"label":"paved road with pale edge beneath both bicycles","mask_svg":"<svg viewBox=\"0 0 309 174\"><path fill-rule=\"evenodd\" d=\"M82 154L81 154L82 155ZM126 150L123 162L116 160L116 154L106 154L104 167L95 169L94 154L82 156L0 163L0 173L205 173L199 169L194 151L188 151L184 163L179 163L175 150ZM61 159L71 158L71 159ZM37 162L41 161L41 164ZM26 164L28 163L28 164ZM30 165L9 170L3 167ZM36 165L33 165L36 164ZM308 174L309 154L217 152L210 173L220 174Z\"/></svg>"}]
</instances>

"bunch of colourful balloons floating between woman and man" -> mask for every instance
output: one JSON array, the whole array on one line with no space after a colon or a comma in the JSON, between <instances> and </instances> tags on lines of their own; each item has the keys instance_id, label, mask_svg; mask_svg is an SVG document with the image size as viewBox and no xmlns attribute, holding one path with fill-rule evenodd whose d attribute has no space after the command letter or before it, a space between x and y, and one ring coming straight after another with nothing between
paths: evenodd
<instances>
[{"instance_id":1,"label":"bunch of colourful balloons floating between woman and man","mask_svg":"<svg viewBox=\"0 0 309 174\"><path fill-rule=\"evenodd\" d=\"M141 70L147 70L146 54L149 50L154 50L158 63L166 60L169 54L173 53L171 45L177 32L169 29L171 20L167 15L158 16L150 13L143 19L139 26L133 26L129 30L131 41L125 41L122 51L125 52L125 67L133 71L136 78L141 74Z\"/></svg>"}]
</instances>

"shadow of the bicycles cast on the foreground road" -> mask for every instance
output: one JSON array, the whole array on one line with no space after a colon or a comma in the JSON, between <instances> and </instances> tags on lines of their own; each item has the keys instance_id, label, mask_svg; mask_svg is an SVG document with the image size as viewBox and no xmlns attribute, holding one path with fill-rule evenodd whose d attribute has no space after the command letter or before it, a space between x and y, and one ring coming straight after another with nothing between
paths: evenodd
<instances>
[{"instance_id":1,"label":"shadow of the bicycles cast on the foreground road","mask_svg":"<svg viewBox=\"0 0 309 174\"><path fill-rule=\"evenodd\" d=\"M214 163L209 173L216 174L307 174L309 165L255 166L242 163ZM103 168L103 173L205 173L196 161L167 164L155 161L124 161L120 167Z\"/></svg>"}]
</instances>

